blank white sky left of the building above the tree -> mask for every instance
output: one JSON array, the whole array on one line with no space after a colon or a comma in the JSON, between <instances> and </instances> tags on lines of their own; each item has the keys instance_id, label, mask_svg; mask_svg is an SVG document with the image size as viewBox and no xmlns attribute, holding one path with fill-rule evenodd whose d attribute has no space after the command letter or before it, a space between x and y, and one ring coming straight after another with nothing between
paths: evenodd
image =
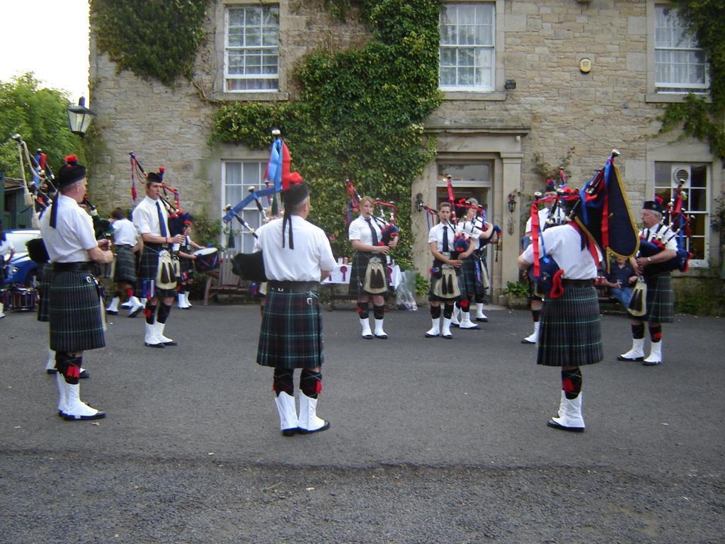
<instances>
[{"instance_id":1,"label":"blank white sky left of the building above the tree","mask_svg":"<svg viewBox=\"0 0 725 544\"><path fill-rule=\"evenodd\" d=\"M88 0L0 0L0 80L33 72L41 86L88 101Z\"/></svg>"}]
</instances>

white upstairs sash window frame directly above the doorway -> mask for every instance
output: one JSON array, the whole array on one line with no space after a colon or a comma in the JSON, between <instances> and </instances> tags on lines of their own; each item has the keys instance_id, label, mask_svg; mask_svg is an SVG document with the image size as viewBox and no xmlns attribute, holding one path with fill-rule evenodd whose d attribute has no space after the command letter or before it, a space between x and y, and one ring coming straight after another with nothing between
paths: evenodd
<instances>
[{"instance_id":1,"label":"white upstairs sash window frame directly above the doorway","mask_svg":"<svg viewBox=\"0 0 725 544\"><path fill-rule=\"evenodd\" d=\"M484 43L484 41L477 40L476 38L473 38L473 44L460 44L461 38L463 36L463 33L460 32L458 29L461 26L464 27L472 27L474 32L473 35L476 35L475 29L479 28L484 25L476 24L477 21L474 20L473 25L460 25L458 24L458 14L461 9L471 9L473 7L474 9L476 7L485 7L486 9L490 10L490 32L489 32L489 42L490 43ZM455 9L455 15L456 15L456 22L455 26L456 31L455 33L455 44L444 44L444 25L443 23L443 15L444 15L444 9ZM497 54L499 51L497 50L498 45L498 34L497 34L497 2L496 1L480 1L480 2L450 2L442 4L441 7L441 14L439 15L439 30L440 30L440 42L439 42L439 88L442 91L468 91L468 92L479 92L479 93L492 93L496 91L497 86L497 75L498 75L498 66L497 66ZM460 58L460 50L461 49L473 49L473 57L474 57L474 70L484 69L484 67L476 66L476 60L475 58L478 57L478 55L483 51L488 51L490 55L490 63L489 66L486 67L486 70L489 70L489 77L490 81L489 84L480 84L476 85L475 83L473 85L444 85L441 81L441 72L442 72L442 57L444 50L455 50L456 51L456 64L455 69L458 70L460 68L459 65L459 58ZM453 65L450 65L453 66ZM474 76L475 77L475 76Z\"/></svg>"}]
</instances>

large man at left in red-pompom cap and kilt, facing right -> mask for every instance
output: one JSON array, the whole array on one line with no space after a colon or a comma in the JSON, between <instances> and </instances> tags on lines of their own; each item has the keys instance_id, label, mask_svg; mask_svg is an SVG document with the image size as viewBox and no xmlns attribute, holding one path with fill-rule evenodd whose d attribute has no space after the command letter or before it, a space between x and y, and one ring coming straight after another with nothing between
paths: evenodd
<instances>
[{"instance_id":1,"label":"large man at left in red-pompom cap and kilt, facing right","mask_svg":"<svg viewBox=\"0 0 725 544\"><path fill-rule=\"evenodd\" d=\"M69 420L99 419L106 414L80 400L78 380L83 352L105 345L101 288L92 270L95 263L110 263L113 254L107 240L96 241L91 216L78 205L86 194L86 168L71 155L56 180L58 194L41 217L41 234L50 260L46 268L52 267L51 275L43 273L48 287L42 297L55 350L58 414Z\"/></svg>"}]
</instances>

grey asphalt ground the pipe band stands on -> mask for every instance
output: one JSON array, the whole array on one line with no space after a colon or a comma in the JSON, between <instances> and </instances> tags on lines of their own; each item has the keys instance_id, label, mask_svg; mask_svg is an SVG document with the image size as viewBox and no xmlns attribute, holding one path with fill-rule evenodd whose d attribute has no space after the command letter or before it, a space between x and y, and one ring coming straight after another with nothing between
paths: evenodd
<instances>
[{"instance_id":1,"label":"grey asphalt ground the pipe band stands on","mask_svg":"<svg viewBox=\"0 0 725 544\"><path fill-rule=\"evenodd\" d=\"M426 310L391 311L390 339L325 312L318 413L284 438L253 306L174 308L178 347L111 318L81 397L107 419L55 415L46 323L0 320L0 543L722 543L718 318L664 326L663 365L619 363L629 322L602 316L584 367L587 432L545 422L555 368L535 364L528 312L425 339Z\"/></svg>"}]
</instances>

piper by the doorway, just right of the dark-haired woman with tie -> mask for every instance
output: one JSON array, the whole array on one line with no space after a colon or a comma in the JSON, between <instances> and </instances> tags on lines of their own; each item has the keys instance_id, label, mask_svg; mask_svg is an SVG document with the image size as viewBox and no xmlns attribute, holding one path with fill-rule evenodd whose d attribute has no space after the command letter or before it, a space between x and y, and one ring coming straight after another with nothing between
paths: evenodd
<instances>
[{"instance_id":1,"label":"piper by the doorway, just right of the dark-haired woman with tie","mask_svg":"<svg viewBox=\"0 0 725 544\"><path fill-rule=\"evenodd\" d=\"M486 276L486 268L481 259L481 251L485 244L489 242L494 233L492 223L484 223L483 218L478 214L479 201L475 198L465 200L461 206L457 207L457 216L462 218L458 221L455 231L461 242L456 242L458 247L464 251L460 255L463 265L460 267L460 300L456 302L456 306L460 307L460 329L480 329L479 325L471 321L471 302L476 300L479 306L478 312L480 318L476 316L476 321L488 321L483 314L484 294L488 289L488 278ZM468 244L473 245L471 252L468 252ZM455 310L454 310L455 312ZM455 314L454 314L455 315Z\"/></svg>"}]
</instances>

